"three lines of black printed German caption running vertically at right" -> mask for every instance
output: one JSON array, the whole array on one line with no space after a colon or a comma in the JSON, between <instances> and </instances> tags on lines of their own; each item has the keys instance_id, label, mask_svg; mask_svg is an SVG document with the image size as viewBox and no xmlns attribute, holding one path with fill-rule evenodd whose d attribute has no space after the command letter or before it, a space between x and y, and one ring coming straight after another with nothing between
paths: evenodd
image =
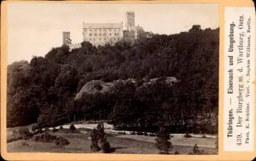
<instances>
[{"instance_id":1,"label":"three lines of black printed German caption running vertically at right","mask_svg":"<svg viewBox=\"0 0 256 161\"><path fill-rule=\"evenodd\" d=\"M228 24L227 24L228 25ZM237 21L229 23L228 47L226 48L226 68L224 69L226 83L227 103L224 107L228 108L226 125L226 136L224 138L232 139L235 145L240 147L251 144L250 137L250 119L251 118L251 89L252 89L252 65L254 61L251 58L251 17L241 14Z\"/></svg>"}]
</instances>

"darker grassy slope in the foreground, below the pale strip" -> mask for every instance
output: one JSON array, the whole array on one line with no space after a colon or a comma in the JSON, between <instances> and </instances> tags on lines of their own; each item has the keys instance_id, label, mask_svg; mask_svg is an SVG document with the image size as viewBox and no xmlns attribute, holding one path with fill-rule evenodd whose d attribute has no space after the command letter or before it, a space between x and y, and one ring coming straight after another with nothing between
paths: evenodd
<instances>
[{"instance_id":1,"label":"darker grassy slope in the foreground, below the pale strip","mask_svg":"<svg viewBox=\"0 0 256 161\"><path fill-rule=\"evenodd\" d=\"M7 144L8 152L61 152L61 153L92 153L90 149L91 140L88 134L83 133L65 133L50 132L51 135L65 137L70 144L66 146L57 146L55 143L42 143L30 140L19 140ZM130 135L127 135L130 136ZM125 154L158 154L159 150L153 142L139 141L131 138L123 138L108 134L108 141L112 147L112 153ZM143 136L144 137L144 136ZM28 145L24 146L26 142ZM208 154L217 154L218 150L214 148L199 148ZM172 153L178 151L180 154L188 154L193 151L192 146L174 145ZM101 153L101 151L97 152Z\"/></svg>"}]
</instances>

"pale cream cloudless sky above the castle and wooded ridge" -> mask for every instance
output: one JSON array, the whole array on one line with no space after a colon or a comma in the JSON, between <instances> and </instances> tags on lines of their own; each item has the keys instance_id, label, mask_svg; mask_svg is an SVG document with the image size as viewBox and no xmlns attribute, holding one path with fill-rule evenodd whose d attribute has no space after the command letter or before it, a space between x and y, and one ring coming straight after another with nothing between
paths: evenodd
<instances>
[{"instance_id":1,"label":"pale cream cloudless sky above the castle and wooded ridge","mask_svg":"<svg viewBox=\"0 0 256 161\"><path fill-rule=\"evenodd\" d=\"M9 3L7 5L8 64L45 56L62 45L62 32L72 43L82 42L82 22L124 22L126 11L135 12L135 24L145 31L175 34L193 24L202 29L219 27L218 4L75 4Z\"/></svg>"}]
</instances>

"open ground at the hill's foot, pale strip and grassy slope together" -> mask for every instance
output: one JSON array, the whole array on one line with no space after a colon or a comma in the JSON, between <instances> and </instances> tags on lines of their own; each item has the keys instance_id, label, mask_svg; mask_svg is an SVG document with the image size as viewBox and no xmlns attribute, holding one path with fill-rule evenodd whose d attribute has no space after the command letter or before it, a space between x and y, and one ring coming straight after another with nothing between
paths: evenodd
<instances>
[{"instance_id":1,"label":"open ground at the hill's foot, pale strip and grassy slope together","mask_svg":"<svg viewBox=\"0 0 256 161\"><path fill-rule=\"evenodd\" d=\"M28 125L31 129L32 125ZM32 140L19 140L8 143L8 151L10 152L81 152L90 153L91 141L89 140L89 131L97 126L96 123L91 124L74 124L74 126L80 131L80 133L70 133L70 125L63 125L62 130L54 132L53 135L62 136L68 139L71 144L65 147L56 146L55 143L40 143L34 142ZM114 153L148 153L155 154L158 153L158 149L155 148L156 137L143 136L143 135L130 135L132 131L124 131L126 135L123 135L123 131L117 131L112 129L111 124L104 123L105 132L108 135L108 140L112 147L115 147ZM14 127L7 129L7 139L16 138L13 135L13 130L18 130L21 127ZM56 127L59 129L60 126ZM52 130L53 128L50 128ZM60 132L62 131L62 132ZM64 132L66 131L66 132ZM172 143L174 145L174 151L179 151L180 153L189 153L193 150L195 144L199 148L204 149L207 153L217 154L218 150L215 149L216 139L214 136L205 135L207 138L202 138L202 135L191 135L192 138L184 138L184 134L174 134L172 135ZM29 144L29 146L21 145L23 142ZM37 149L35 151L35 149ZM133 149L133 150L132 150Z\"/></svg>"}]
</instances>

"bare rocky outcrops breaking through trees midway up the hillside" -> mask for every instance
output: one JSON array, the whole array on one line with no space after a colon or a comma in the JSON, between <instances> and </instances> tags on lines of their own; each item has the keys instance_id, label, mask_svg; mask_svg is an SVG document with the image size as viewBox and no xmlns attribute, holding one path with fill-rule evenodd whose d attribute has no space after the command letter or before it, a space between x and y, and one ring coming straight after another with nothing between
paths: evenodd
<instances>
[{"instance_id":1,"label":"bare rocky outcrops breaking through trees midway up the hillside","mask_svg":"<svg viewBox=\"0 0 256 161\"><path fill-rule=\"evenodd\" d=\"M153 79L149 79L148 81L146 81L144 79L144 83L141 86L139 86L138 89L140 89L142 87L154 85L154 83L156 83L158 80L165 81L165 83L170 86L172 86L173 83L178 82L177 78L173 77L173 76L168 76L165 78L163 78L163 77L153 78ZM103 82L101 80L93 80L93 81L88 82L81 88L81 90L76 94L75 99L81 98L82 94L85 92L91 93L91 94L94 94L97 92L111 92L113 87L119 82L122 82L122 83L132 82L134 84L137 83L136 79L133 79L133 78L129 78L126 80L117 80L117 81L109 82L109 83Z\"/></svg>"}]
</instances>

